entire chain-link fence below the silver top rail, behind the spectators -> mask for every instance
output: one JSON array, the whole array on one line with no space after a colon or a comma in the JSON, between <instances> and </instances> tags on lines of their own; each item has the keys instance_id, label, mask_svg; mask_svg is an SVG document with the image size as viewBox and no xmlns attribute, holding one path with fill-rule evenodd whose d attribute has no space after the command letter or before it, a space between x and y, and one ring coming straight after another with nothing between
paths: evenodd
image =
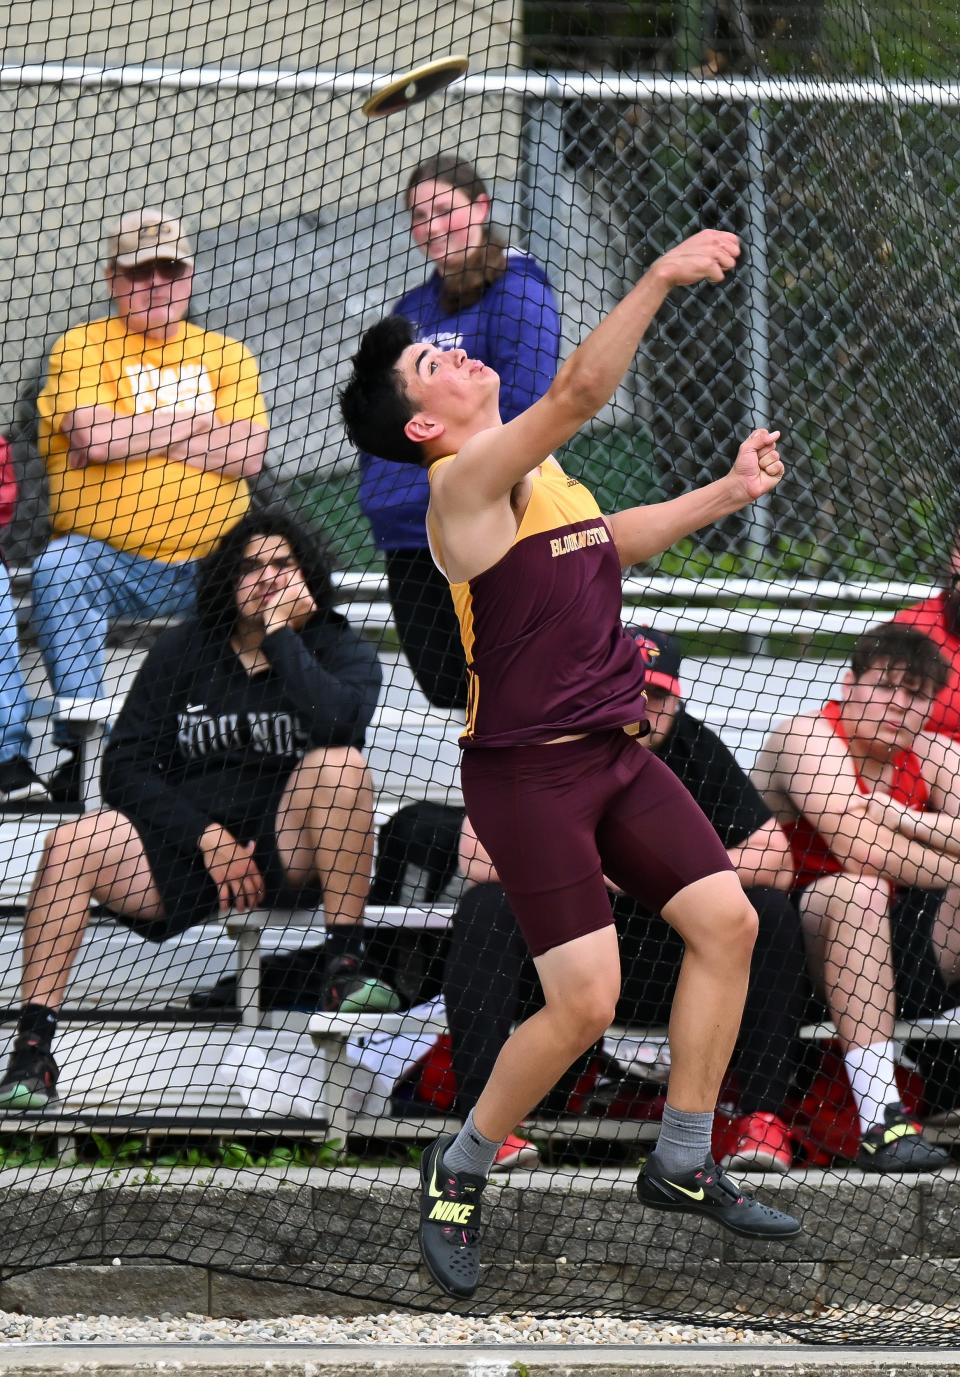
<instances>
[{"instance_id":1,"label":"entire chain-link fence below the silver top rail, behind the spectators","mask_svg":"<svg viewBox=\"0 0 960 1377\"><path fill-rule=\"evenodd\" d=\"M4 410L52 336L105 304L107 208L163 191L200 229L197 313L262 359L273 461L326 523L336 514L347 562L369 562L331 399L361 329L421 273L398 204L402 138L386 136L373 182L337 95L6 85L0 109L15 245L0 266ZM665 571L935 570L960 410L950 107L828 90L818 103L492 90L431 114L424 139L494 169L499 218L561 293L566 351L682 235L741 235L735 278L667 304L635 376L569 456L616 507L718 474L752 425L782 428L775 497L669 552Z\"/></svg>"}]
</instances>

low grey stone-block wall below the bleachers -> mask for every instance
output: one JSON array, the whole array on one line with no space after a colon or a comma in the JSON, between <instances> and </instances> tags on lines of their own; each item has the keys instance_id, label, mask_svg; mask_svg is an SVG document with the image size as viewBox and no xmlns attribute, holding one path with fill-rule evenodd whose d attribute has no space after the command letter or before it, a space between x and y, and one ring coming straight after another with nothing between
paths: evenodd
<instances>
[{"instance_id":1,"label":"low grey stone-block wall below the bleachers","mask_svg":"<svg viewBox=\"0 0 960 1377\"><path fill-rule=\"evenodd\" d=\"M106 1175L4 1173L0 1305L282 1315L438 1301L416 1246L409 1169L154 1168L153 1184L143 1169ZM803 1221L803 1232L775 1250L697 1219L664 1227L638 1203L634 1177L624 1166L492 1180L481 1286L471 1301L441 1299L442 1308L767 1321L807 1343L956 1343L953 1172L865 1180L833 1168L760 1177L762 1198ZM112 1268L113 1257L124 1265ZM85 1265L55 1265L74 1259ZM165 1265L147 1270L149 1260ZM18 1275L32 1267L43 1270ZM227 1281L216 1275L223 1271L242 1276ZM646 1360L635 1370L650 1371Z\"/></svg>"}]
</instances>

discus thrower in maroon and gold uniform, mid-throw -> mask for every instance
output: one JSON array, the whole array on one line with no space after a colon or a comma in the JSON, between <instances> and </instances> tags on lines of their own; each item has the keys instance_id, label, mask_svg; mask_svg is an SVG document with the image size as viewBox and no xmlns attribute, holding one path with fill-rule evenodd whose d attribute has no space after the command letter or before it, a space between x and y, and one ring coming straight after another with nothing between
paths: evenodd
<instances>
[{"instance_id":1,"label":"discus thrower in maroon and gold uniform, mid-throw","mask_svg":"<svg viewBox=\"0 0 960 1377\"><path fill-rule=\"evenodd\" d=\"M478 1285L479 1202L497 1148L613 1020L620 958L605 874L686 945L667 1108L640 1201L758 1238L800 1228L711 1158L758 920L716 832L640 742L643 661L620 625L621 569L775 487L780 432L755 431L716 482L613 516L552 459L610 399L667 295L722 282L738 255L735 235L715 230L664 253L505 425L492 369L415 340L397 318L364 335L340 394L354 443L427 465L427 529L470 671L464 803L544 994L461 1132L423 1154L420 1248L452 1296Z\"/></svg>"}]
</instances>

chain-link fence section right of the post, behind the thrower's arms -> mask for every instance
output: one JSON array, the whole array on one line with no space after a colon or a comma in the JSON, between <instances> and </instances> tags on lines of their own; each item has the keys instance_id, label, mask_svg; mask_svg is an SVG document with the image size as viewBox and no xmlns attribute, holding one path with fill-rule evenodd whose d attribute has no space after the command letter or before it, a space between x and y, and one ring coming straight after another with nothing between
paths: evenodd
<instances>
[{"instance_id":1,"label":"chain-link fence section right of the post, behind the thrower's arms","mask_svg":"<svg viewBox=\"0 0 960 1377\"><path fill-rule=\"evenodd\" d=\"M625 281L698 227L744 242L723 292L686 293L661 313L635 405L594 435L594 481L607 461L629 463L631 496L674 496L716 475L753 425L773 424L788 479L766 508L690 545L689 571L932 571L957 456L957 269L942 196L960 143L950 110L528 103L528 147L548 143L540 129L556 109L556 168L530 164L554 202L554 235L565 223L555 202L585 197Z\"/></svg>"}]
</instances>

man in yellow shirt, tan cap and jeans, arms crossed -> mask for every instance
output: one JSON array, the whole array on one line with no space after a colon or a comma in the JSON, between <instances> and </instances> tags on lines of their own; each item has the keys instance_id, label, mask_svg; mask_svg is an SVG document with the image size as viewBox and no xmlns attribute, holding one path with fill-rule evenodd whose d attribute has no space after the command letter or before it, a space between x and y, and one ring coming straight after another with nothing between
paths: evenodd
<instances>
[{"instance_id":1,"label":"man in yellow shirt, tan cap and jeans, arms crossed","mask_svg":"<svg viewBox=\"0 0 960 1377\"><path fill-rule=\"evenodd\" d=\"M187 321L193 252L163 209L127 212L106 237L114 314L54 346L37 399L52 540L33 566L33 620L58 698L102 698L110 617L182 616L197 560L249 507L267 446L256 362ZM69 801L73 753L51 778Z\"/></svg>"}]
</instances>

